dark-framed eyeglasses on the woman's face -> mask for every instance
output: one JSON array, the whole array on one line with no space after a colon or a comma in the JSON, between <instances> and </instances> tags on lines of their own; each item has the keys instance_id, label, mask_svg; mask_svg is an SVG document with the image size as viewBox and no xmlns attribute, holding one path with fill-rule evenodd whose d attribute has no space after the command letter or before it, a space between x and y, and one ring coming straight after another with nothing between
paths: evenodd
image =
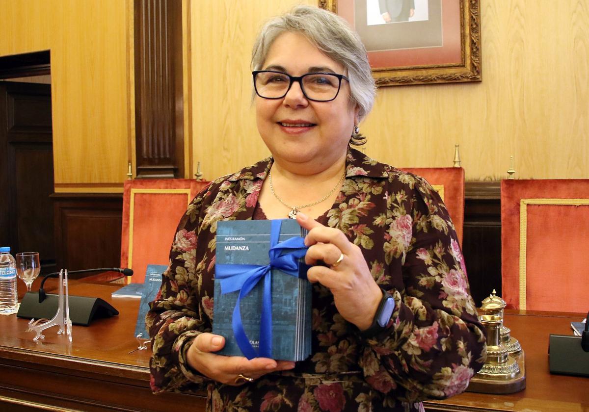
<instances>
[{"instance_id":1,"label":"dark-framed eyeglasses on the woman's face","mask_svg":"<svg viewBox=\"0 0 589 412\"><path fill-rule=\"evenodd\" d=\"M273 71L260 70L252 72L256 94L264 99L282 99L289 92L293 82L298 82L303 95L316 102L329 102L337 97L342 86L342 79L350 81L342 74L307 73L302 76Z\"/></svg>"}]
</instances>

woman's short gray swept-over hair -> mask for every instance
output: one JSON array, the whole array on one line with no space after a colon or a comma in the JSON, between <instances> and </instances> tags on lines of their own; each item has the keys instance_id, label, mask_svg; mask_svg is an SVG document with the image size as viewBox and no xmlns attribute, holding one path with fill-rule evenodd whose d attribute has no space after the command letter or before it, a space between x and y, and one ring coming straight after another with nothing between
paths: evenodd
<instances>
[{"instance_id":1,"label":"woman's short gray swept-over hair","mask_svg":"<svg viewBox=\"0 0 589 412\"><path fill-rule=\"evenodd\" d=\"M304 35L329 58L342 64L350 79L350 102L358 105L361 119L372 109L376 87L370 71L366 48L360 36L340 16L313 7L296 6L287 14L268 21L257 36L252 51L252 69L262 69L262 64L276 38L284 32ZM350 143L362 144L366 138L352 136Z\"/></svg>"}]
</instances>

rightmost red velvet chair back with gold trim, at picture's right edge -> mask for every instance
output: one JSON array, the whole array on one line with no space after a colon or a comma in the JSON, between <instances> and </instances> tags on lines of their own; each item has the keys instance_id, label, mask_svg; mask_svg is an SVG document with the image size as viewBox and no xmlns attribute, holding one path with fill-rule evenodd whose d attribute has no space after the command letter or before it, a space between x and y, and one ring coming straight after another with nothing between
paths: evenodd
<instances>
[{"instance_id":1,"label":"rightmost red velvet chair back with gold trim, at picture's right edge","mask_svg":"<svg viewBox=\"0 0 589 412\"><path fill-rule=\"evenodd\" d=\"M589 180L501 181L502 298L587 313Z\"/></svg>"}]
</instances>

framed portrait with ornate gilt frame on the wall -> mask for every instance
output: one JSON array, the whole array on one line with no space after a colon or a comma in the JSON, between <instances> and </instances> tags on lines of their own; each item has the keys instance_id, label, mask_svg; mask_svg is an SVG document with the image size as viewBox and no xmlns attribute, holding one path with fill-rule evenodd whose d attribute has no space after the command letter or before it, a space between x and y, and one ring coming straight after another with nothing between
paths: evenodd
<instances>
[{"instance_id":1,"label":"framed portrait with ornate gilt frame on the wall","mask_svg":"<svg viewBox=\"0 0 589 412\"><path fill-rule=\"evenodd\" d=\"M320 0L368 51L376 85L481 81L480 0Z\"/></svg>"}]
</instances>

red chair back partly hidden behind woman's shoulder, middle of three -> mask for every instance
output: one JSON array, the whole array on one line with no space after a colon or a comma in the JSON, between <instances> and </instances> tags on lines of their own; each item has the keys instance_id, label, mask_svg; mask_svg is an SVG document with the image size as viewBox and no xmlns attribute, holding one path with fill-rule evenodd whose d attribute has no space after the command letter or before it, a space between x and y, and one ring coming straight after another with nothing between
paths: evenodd
<instances>
[{"instance_id":1,"label":"red chair back partly hidden behind woman's shoulder, middle of three","mask_svg":"<svg viewBox=\"0 0 589 412\"><path fill-rule=\"evenodd\" d=\"M401 170L424 177L444 201L462 246L464 226L464 169L461 167L403 167Z\"/></svg>"}]
</instances>

